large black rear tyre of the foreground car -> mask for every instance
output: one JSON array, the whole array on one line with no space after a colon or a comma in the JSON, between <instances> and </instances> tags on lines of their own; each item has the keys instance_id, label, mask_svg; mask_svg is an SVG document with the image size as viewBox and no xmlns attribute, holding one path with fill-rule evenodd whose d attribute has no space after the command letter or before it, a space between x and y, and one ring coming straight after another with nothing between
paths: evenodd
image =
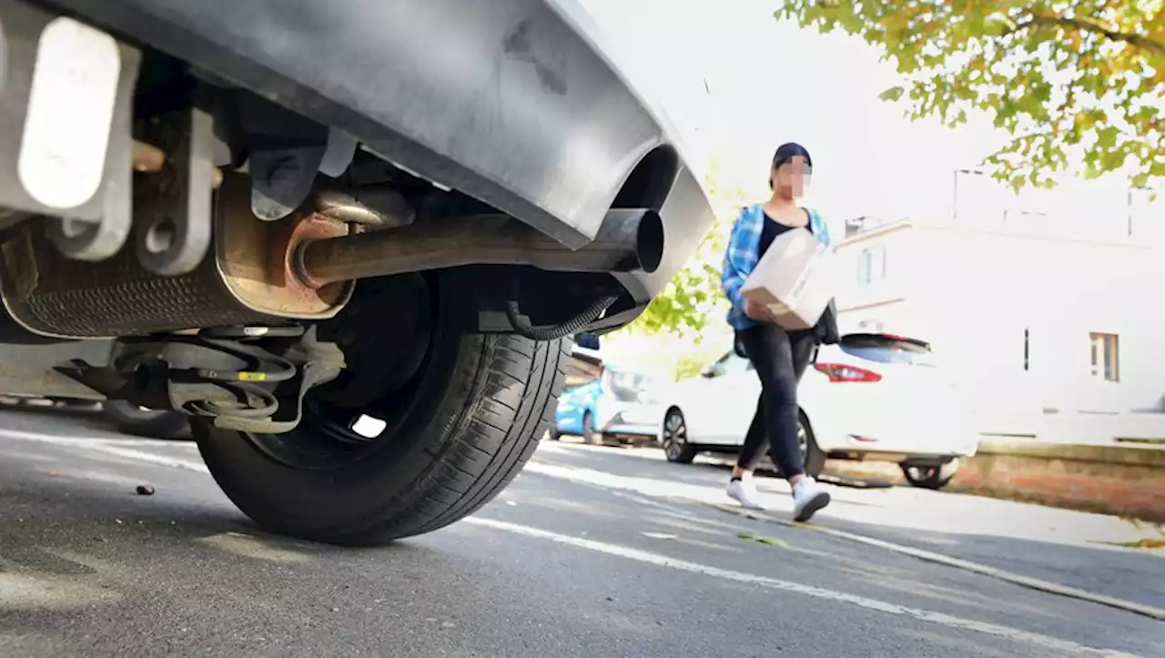
<instances>
[{"instance_id":1,"label":"large black rear tyre of the foreground car","mask_svg":"<svg viewBox=\"0 0 1165 658\"><path fill-rule=\"evenodd\" d=\"M324 384L308 392L291 432L192 423L223 491L266 529L359 546L431 532L489 502L552 423L567 344L461 333L443 328L453 323L439 317L430 323L416 372L375 403L344 409L346 398ZM377 436L356 436L365 416L384 423Z\"/></svg>"}]
</instances>

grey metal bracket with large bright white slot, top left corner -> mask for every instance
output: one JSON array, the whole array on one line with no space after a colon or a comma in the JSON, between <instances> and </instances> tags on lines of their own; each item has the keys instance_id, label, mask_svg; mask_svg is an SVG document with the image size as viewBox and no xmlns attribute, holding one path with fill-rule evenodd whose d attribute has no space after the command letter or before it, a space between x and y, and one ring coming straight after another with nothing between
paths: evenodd
<instances>
[{"instance_id":1,"label":"grey metal bracket with large bright white slot, top left corner","mask_svg":"<svg viewBox=\"0 0 1165 658\"><path fill-rule=\"evenodd\" d=\"M48 235L69 257L106 259L129 234L141 54L26 2L0 0L0 207L51 218ZM70 48L87 58L54 64ZM68 107L84 116L62 114Z\"/></svg>"}]
</instances>

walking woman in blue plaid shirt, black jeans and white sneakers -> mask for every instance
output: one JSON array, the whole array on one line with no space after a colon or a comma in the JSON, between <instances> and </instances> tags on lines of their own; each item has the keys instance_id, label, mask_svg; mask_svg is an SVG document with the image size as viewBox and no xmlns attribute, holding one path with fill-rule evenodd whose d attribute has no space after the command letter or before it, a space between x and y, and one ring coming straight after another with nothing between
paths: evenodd
<instances>
[{"instance_id":1,"label":"walking woman in blue plaid shirt, black jeans and white sneakers","mask_svg":"<svg viewBox=\"0 0 1165 658\"><path fill-rule=\"evenodd\" d=\"M751 475L768 443L774 464L792 487L796 521L809 521L816 511L829 504L829 494L805 474L797 440L797 383L819 342L820 323L812 330L785 331L774 324L763 306L744 299L741 288L757 261L782 233L804 227L822 243L829 243L829 234L820 215L797 205L812 167L809 151L800 144L786 143L777 149L769 170L772 194L768 201L741 211L732 228L721 274L721 284L732 302L728 324L735 330L737 352L743 351L761 378L761 398L744 437L744 447L733 468L728 495L746 508L760 508Z\"/></svg>"}]
</instances>

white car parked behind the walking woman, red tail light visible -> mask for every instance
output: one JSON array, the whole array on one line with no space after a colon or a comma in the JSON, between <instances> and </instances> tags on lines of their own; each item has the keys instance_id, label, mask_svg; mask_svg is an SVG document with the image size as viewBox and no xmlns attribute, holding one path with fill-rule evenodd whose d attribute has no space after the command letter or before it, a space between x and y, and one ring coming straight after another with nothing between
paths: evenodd
<instances>
[{"instance_id":1,"label":"white car parked behind the walking woman, red tail light visible","mask_svg":"<svg viewBox=\"0 0 1165 658\"><path fill-rule=\"evenodd\" d=\"M739 452L761 382L728 352L670 391L661 444L669 461ZM798 389L805 469L828 459L894 461L917 487L939 489L960 458L979 448L969 404L934 362L931 346L904 337L852 333L818 348Z\"/></svg>"}]
</instances>

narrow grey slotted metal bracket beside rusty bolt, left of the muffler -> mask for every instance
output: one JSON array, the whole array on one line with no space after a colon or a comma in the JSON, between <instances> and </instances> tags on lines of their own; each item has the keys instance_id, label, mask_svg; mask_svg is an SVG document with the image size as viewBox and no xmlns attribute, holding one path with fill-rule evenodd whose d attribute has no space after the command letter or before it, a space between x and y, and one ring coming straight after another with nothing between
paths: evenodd
<instances>
[{"instance_id":1,"label":"narrow grey slotted metal bracket beside rusty bolt, left of the muffler","mask_svg":"<svg viewBox=\"0 0 1165 658\"><path fill-rule=\"evenodd\" d=\"M141 134L167 158L161 171L143 174L134 189L137 257L155 274L186 274L211 246L214 119L191 107L151 118Z\"/></svg>"}]
</instances>

